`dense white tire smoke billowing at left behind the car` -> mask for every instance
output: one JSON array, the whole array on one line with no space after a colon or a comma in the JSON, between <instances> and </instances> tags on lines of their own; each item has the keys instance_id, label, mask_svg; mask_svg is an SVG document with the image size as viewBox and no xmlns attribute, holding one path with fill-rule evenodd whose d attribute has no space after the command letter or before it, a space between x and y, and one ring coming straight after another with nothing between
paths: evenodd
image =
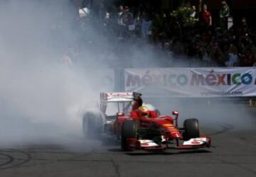
<instances>
[{"instance_id":1,"label":"dense white tire smoke billowing at left behind the car","mask_svg":"<svg viewBox=\"0 0 256 177\"><path fill-rule=\"evenodd\" d=\"M1 2L1 144L82 136L82 113L97 106L100 91L112 89L105 82L104 69L87 72L82 68L90 63L107 67L97 64L94 51L87 52L81 67L79 62L67 66L61 61L80 35L72 21L58 19L60 7L75 18L67 2ZM60 23L62 28L55 30Z\"/></svg>"}]
</instances>

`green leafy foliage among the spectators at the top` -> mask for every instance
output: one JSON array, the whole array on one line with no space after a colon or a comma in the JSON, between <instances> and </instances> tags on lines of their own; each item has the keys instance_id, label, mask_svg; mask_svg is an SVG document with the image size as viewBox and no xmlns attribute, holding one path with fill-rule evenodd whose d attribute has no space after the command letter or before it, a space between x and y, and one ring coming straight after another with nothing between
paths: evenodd
<instances>
[{"instance_id":1,"label":"green leafy foliage among the spectators at the top","mask_svg":"<svg viewBox=\"0 0 256 177\"><path fill-rule=\"evenodd\" d=\"M171 11L170 15L174 18L176 24L179 24L181 28L191 27L196 23L196 19L191 17L193 9L190 7L179 7L176 11Z\"/></svg>"}]
</instances>

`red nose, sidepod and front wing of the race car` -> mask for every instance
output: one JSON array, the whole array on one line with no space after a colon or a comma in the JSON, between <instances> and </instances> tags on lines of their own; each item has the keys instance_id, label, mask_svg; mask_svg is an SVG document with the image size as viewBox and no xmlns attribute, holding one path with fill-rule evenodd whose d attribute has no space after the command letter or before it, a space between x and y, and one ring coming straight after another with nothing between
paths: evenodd
<instances>
[{"instance_id":1,"label":"red nose, sidepod and front wing of the race car","mask_svg":"<svg viewBox=\"0 0 256 177\"><path fill-rule=\"evenodd\" d=\"M177 113L177 112L176 112ZM156 111L149 111L149 118L140 118L137 110L132 110L129 116L119 115L117 119L114 121L112 126L112 132L115 135L121 136L122 122L125 120L136 120L137 127L141 129L149 129L154 126L155 130L159 130L164 139L172 139L176 140L175 147L169 147L168 143L164 144L164 146L156 146L156 147L143 147L142 143L139 139L129 138L127 139L127 148L128 149L145 149L145 150L156 150L156 149L197 149L203 147L210 147L210 138L202 136L200 138L206 138L207 142L204 144L194 144L190 145L179 145L178 140L183 140L183 135L178 130L178 113L176 114L176 118L173 118L168 115L158 116ZM144 144L145 145L145 144Z\"/></svg>"}]
</instances>

